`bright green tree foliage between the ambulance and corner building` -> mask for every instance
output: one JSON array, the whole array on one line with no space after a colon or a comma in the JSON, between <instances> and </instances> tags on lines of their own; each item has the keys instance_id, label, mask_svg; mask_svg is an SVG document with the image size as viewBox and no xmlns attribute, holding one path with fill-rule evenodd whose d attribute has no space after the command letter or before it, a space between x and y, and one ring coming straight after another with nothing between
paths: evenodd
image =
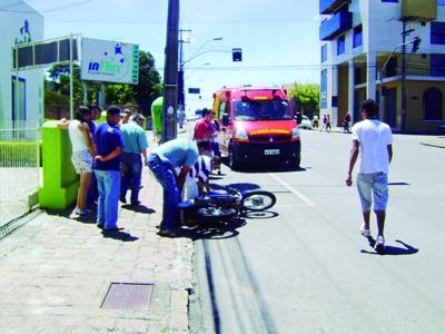
<instances>
[{"instance_id":1,"label":"bright green tree foliage between the ambulance and corner building","mask_svg":"<svg viewBox=\"0 0 445 334\"><path fill-rule=\"evenodd\" d=\"M319 85L295 84L289 97L296 102L296 109L304 115L319 112Z\"/></svg>"}]
</instances>

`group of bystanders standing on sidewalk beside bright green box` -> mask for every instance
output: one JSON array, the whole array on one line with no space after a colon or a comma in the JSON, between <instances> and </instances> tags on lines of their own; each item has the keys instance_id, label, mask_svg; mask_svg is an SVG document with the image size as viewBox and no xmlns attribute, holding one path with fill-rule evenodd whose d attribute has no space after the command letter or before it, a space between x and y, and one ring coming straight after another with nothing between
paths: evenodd
<instances>
[{"instance_id":1,"label":"group of bystanders standing on sidewalk beside bright green box","mask_svg":"<svg viewBox=\"0 0 445 334\"><path fill-rule=\"evenodd\" d=\"M73 120L62 119L58 126L69 131L71 161L80 176L76 208L71 217L88 215L88 204L97 204L97 225L106 230L119 229L118 202L126 202L131 189L131 205L139 205L142 157L147 161L145 117L116 106L107 109L107 119L98 106L80 106Z\"/></svg>"}]
</instances>

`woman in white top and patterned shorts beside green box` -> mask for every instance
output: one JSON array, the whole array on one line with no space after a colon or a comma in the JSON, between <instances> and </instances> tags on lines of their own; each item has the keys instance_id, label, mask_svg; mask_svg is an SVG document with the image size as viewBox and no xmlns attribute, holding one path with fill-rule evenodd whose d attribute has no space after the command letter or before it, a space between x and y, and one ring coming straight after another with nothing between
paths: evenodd
<instances>
[{"instance_id":1,"label":"woman in white top and patterned shorts beside green box","mask_svg":"<svg viewBox=\"0 0 445 334\"><path fill-rule=\"evenodd\" d=\"M58 124L59 128L68 129L72 147L71 161L76 173L80 176L77 204L71 214L72 218L90 213L87 209L87 197L91 181L93 158L96 156L96 147L91 140L91 132L88 126L90 118L90 110L87 107L80 106L76 111L73 120L61 119Z\"/></svg>"}]
</instances>

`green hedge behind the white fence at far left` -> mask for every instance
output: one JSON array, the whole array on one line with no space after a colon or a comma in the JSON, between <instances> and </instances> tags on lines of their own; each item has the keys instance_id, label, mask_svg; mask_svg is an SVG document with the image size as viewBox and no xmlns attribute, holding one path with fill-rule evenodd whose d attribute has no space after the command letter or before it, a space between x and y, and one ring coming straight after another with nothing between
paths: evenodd
<instances>
[{"instance_id":1,"label":"green hedge behind the white fence at far left","mask_svg":"<svg viewBox=\"0 0 445 334\"><path fill-rule=\"evenodd\" d=\"M39 153L37 151L39 146ZM0 141L0 166L2 167L36 167L39 155L39 166L42 166L42 143Z\"/></svg>"}]
</instances>

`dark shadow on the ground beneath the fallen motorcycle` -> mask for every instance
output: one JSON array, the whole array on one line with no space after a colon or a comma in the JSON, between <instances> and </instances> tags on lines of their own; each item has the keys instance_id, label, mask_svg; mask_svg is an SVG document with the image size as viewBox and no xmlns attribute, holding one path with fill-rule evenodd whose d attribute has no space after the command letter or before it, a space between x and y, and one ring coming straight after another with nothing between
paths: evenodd
<instances>
[{"instance_id":1,"label":"dark shadow on the ground beneath the fallen motorcycle","mask_svg":"<svg viewBox=\"0 0 445 334\"><path fill-rule=\"evenodd\" d=\"M199 239L228 239L239 235L238 228L246 225L245 219L236 219L230 223L201 223L182 225L175 230L179 237Z\"/></svg>"}]
</instances>

